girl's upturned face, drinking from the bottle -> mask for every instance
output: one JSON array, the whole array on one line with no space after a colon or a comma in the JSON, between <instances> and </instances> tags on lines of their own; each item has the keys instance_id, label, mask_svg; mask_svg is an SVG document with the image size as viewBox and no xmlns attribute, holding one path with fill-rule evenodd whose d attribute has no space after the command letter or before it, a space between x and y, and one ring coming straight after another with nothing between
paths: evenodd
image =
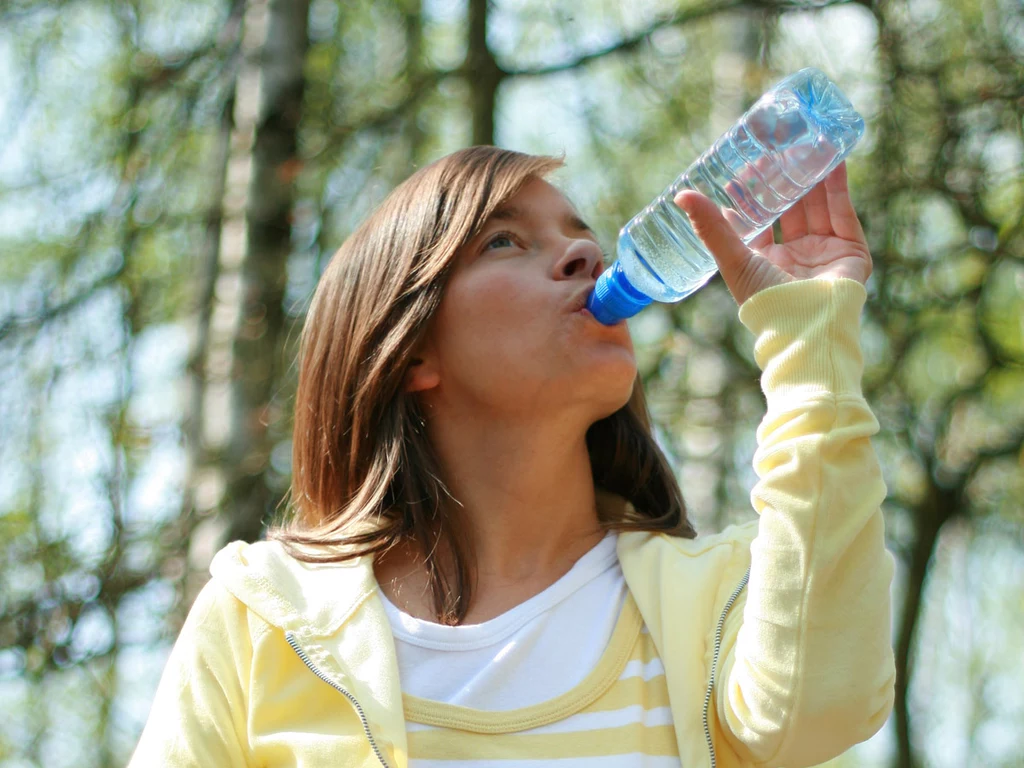
<instances>
[{"instance_id":1,"label":"girl's upturned face, drinking from the bottle","mask_svg":"<svg viewBox=\"0 0 1024 768\"><path fill-rule=\"evenodd\" d=\"M589 425L617 411L637 373L629 329L581 309L601 257L565 197L527 181L458 254L421 355L434 376L413 388L474 417L569 409Z\"/></svg>"}]
</instances>

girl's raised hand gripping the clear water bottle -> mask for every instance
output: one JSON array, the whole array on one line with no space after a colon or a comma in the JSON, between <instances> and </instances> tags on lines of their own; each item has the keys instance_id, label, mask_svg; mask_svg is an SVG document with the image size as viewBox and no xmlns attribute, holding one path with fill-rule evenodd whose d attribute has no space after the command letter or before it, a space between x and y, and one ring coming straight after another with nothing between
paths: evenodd
<instances>
[{"instance_id":1,"label":"girl's raised hand gripping the clear water bottle","mask_svg":"<svg viewBox=\"0 0 1024 768\"><path fill-rule=\"evenodd\" d=\"M871 254L853 209L846 163L840 163L779 218L782 242L772 229L750 247L711 200L684 189L675 198L712 252L737 304L772 286L795 280L850 278L861 284L871 273Z\"/></svg>"}]
</instances>

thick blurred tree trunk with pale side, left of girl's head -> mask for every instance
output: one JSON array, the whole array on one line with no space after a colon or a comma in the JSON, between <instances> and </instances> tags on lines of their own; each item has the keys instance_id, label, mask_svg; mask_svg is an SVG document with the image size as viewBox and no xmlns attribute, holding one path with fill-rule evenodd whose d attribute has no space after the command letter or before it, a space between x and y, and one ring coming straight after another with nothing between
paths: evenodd
<instances>
[{"instance_id":1,"label":"thick blurred tree trunk with pale side, left of girl's head","mask_svg":"<svg viewBox=\"0 0 1024 768\"><path fill-rule=\"evenodd\" d=\"M259 538L278 493L265 469L272 447L270 400L287 332L284 294L292 181L308 47L307 0L249 0L234 87L216 289L212 296L202 403L203 454L190 493L199 512L216 509L189 538L194 575L206 581L226 541ZM195 407L195 406L194 406Z\"/></svg>"}]
</instances>

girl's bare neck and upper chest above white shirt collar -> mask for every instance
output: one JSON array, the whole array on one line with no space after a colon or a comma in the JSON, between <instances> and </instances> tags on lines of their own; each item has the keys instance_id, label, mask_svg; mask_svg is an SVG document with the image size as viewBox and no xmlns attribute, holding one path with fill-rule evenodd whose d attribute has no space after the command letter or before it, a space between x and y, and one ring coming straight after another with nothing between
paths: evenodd
<instances>
[{"instance_id":1,"label":"girl's bare neck and upper chest above white shirt collar","mask_svg":"<svg viewBox=\"0 0 1024 768\"><path fill-rule=\"evenodd\" d=\"M547 589L603 538L586 431L586 419L561 428L554 419L502 426L445 415L431 422L431 443L473 550L466 624ZM397 547L378 558L375 570L392 602L432 621L422 557L415 545Z\"/></svg>"}]
</instances>

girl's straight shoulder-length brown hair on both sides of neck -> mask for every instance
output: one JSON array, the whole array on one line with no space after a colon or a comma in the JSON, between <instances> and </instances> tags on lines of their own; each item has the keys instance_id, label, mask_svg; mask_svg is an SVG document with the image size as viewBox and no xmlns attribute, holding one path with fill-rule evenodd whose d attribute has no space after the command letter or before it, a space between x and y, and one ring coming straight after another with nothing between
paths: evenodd
<instances>
[{"instance_id":1,"label":"girl's straight shoulder-length brown hair on both sides of neck","mask_svg":"<svg viewBox=\"0 0 1024 768\"><path fill-rule=\"evenodd\" d=\"M335 253L300 342L292 517L267 534L293 557L337 562L411 539L437 620L465 617L472 553L403 382L457 252L524 182L562 165L494 146L453 153L399 184ZM606 529L696 536L639 377L629 402L587 431L587 447L595 485L632 503L600 521Z\"/></svg>"}]
</instances>

